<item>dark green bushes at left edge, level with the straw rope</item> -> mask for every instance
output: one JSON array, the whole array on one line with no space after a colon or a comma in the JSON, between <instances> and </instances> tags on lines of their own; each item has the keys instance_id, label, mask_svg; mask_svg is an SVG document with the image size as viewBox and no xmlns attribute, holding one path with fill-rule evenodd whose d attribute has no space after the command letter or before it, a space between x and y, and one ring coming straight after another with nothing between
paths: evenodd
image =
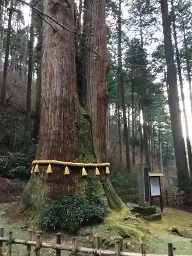
<instances>
[{"instance_id":1,"label":"dark green bushes at left edge, level with the straw rope","mask_svg":"<svg viewBox=\"0 0 192 256\"><path fill-rule=\"evenodd\" d=\"M30 177L31 161L34 156L31 154L8 153L0 157L0 176L6 178L19 178L27 180Z\"/></svg>"}]
</instances>

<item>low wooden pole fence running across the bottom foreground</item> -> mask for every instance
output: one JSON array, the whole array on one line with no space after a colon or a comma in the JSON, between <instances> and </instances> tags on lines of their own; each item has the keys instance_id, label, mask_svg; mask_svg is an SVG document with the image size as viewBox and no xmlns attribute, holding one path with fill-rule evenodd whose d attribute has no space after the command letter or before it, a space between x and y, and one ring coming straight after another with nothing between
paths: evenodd
<instances>
[{"instance_id":1,"label":"low wooden pole fence running across the bottom foreground","mask_svg":"<svg viewBox=\"0 0 192 256\"><path fill-rule=\"evenodd\" d=\"M72 245L66 245L65 243L61 244L61 233L56 234L55 244L41 242L41 234L37 232L36 241L32 241L32 232L29 232L28 240L22 239L15 239L13 238L13 232L9 232L9 237L4 237L4 228L0 228L0 256L3 256L3 243L6 243L8 246L7 255L11 256L12 254L12 245L13 244L20 244L27 246L26 248L26 255L31 256L31 249L34 246L34 252L36 256L40 256L40 249L41 248L51 248L56 250L56 256L61 256L61 251L69 251L70 255L76 256L78 253L86 253L86 254L94 254L94 255L111 255L111 256L144 256L146 255L146 248L145 244L141 244L141 253L133 253L133 252L126 252L123 251L123 238L117 237L115 238L115 250L104 250L102 249L102 238L95 237L94 240L94 248L87 248L87 247L80 247L77 246L76 238L72 239ZM148 254L148 255L155 255L155 254ZM162 254L158 254L161 255ZM168 243L167 247L167 255L173 256L173 244ZM157 254L155 255L157 256Z\"/></svg>"}]
</instances>

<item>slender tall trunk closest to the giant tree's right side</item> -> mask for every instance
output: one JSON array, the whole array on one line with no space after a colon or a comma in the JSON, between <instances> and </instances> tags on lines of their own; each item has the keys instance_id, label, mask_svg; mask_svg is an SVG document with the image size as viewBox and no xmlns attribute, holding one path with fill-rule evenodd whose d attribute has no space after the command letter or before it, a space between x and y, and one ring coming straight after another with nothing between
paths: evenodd
<instances>
[{"instance_id":1,"label":"slender tall trunk closest to the giant tree's right side","mask_svg":"<svg viewBox=\"0 0 192 256\"><path fill-rule=\"evenodd\" d=\"M122 74L122 53L121 53L121 0L119 0L119 12L118 12L118 87L120 87L121 93L121 106L123 112L123 128L124 128L124 138L125 138L125 153L126 153L126 169L131 172L130 164L130 145L129 145L129 135L127 129L127 120L126 120L126 106L125 106L125 97L124 97L124 81Z\"/></svg>"}]
</instances>

